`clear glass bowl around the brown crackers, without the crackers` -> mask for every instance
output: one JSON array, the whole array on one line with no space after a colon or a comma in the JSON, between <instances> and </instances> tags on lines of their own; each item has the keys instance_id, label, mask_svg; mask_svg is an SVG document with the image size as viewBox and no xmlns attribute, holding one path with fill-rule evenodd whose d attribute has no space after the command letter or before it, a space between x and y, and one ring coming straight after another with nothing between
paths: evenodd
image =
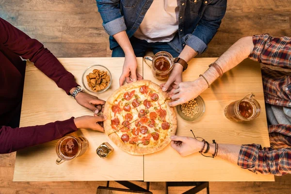
<instances>
[{"instance_id":1,"label":"clear glass bowl around the brown crackers, without the crackers","mask_svg":"<svg viewBox=\"0 0 291 194\"><path fill-rule=\"evenodd\" d=\"M87 81L87 78L86 76L89 75L89 73L93 73L93 70L94 69L98 69L100 71L107 71L107 75L110 77L110 82L108 84L108 86L106 86L104 89L102 90L99 90L99 91L93 91L89 86L88 86L88 81ZM93 94L100 94L100 93L103 93L105 92L106 90L108 90L111 86L111 83L112 83L112 75L109 71L109 69L103 65L92 65L88 68L85 69L83 75L82 75L82 84L83 84L83 88L88 91L89 93L93 93Z\"/></svg>"}]
</instances>

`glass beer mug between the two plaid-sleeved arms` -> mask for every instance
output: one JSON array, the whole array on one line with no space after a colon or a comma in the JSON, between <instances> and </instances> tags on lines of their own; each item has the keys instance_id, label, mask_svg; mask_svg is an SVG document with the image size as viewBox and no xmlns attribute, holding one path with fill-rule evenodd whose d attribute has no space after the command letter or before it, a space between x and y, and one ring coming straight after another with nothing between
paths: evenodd
<instances>
[{"instance_id":1,"label":"glass beer mug between the two plaid-sleeved arms","mask_svg":"<svg viewBox=\"0 0 291 194\"><path fill-rule=\"evenodd\" d=\"M253 93L249 93L241 100L231 102L225 108L225 115L231 121L250 121L259 116L259 102Z\"/></svg>"}]
</instances>

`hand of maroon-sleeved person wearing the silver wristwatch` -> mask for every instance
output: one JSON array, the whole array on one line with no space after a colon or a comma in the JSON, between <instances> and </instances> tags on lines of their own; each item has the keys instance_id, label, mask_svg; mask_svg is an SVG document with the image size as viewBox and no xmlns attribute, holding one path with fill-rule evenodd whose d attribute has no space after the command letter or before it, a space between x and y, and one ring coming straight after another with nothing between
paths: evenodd
<instances>
[{"instance_id":1,"label":"hand of maroon-sleeved person wearing the silver wristwatch","mask_svg":"<svg viewBox=\"0 0 291 194\"><path fill-rule=\"evenodd\" d=\"M74 91L74 88L71 89ZM99 99L96 96L90 95L85 92L79 92L75 97L78 104L81 106L90 109L93 113L97 114L100 111L103 112L105 102L104 100Z\"/></svg>"}]
</instances>

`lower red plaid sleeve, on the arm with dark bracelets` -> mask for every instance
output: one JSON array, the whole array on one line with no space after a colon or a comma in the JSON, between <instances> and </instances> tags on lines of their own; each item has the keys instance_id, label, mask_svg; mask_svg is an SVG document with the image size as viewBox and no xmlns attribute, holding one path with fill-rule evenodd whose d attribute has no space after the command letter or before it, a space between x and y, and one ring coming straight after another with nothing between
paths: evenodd
<instances>
[{"instance_id":1,"label":"lower red plaid sleeve, on the arm with dark bracelets","mask_svg":"<svg viewBox=\"0 0 291 194\"><path fill-rule=\"evenodd\" d=\"M255 173L276 176L291 173L291 147L273 149L258 144L242 145L238 165Z\"/></svg>"}]
</instances>

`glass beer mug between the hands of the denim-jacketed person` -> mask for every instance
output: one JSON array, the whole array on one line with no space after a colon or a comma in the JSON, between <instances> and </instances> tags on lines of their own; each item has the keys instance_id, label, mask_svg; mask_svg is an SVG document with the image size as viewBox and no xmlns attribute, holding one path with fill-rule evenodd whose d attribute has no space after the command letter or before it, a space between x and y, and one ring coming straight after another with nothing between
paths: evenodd
<instances>
[{"instance_id":1,"label":"glass beer mug between the hands of the denim-jacketed person","mask_svg":"<svg viewBox=\"0 0 291 194\"><path fill-rule=\"evenodd\" d=\"M151 64L148 64L148 61ZM151 67L153 76L158 80L167 79L174 65L173 56L166 52L157 52L154 57L144 56L144 62Z\"/></svg>"}]
</instances>

